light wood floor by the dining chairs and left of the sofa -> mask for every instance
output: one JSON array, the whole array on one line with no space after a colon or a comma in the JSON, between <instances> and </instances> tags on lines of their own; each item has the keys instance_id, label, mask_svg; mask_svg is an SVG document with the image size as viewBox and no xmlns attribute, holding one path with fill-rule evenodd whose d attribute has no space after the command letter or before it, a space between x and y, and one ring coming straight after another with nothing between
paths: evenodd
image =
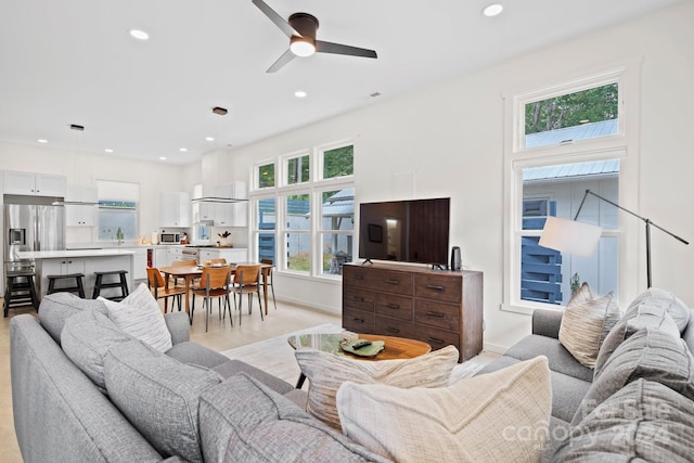
<instances>
[{"instance_id":1,"label":"light wood floor by the dining chairs and left of the sofa","mask_svg":"<svg viewBox=\"0 0 694 463\"><path fill-rule=\"evenodd\" d=\"M2 298L0 298L2 301ZM244 308L247 299L244 300ZM270 308L265 321L260 321L257 304L254 305L249 316L244 310L242 323L239 324L239 314L234 313L234 326L229 324L229 317L219 320L217 304L214 305L209 317L209 329L205 333L205 312L200 308L193 317L191 327L191 340L195 340L216 351L229 350L247 344L265 340L282 334L305 330L324 323L342 324L339 316L320 312L303 307L282 304L278 301L274 310L270 301ZM10 383L10 320L18 313L33 313L33 308L11 309L10 317L0 318L0 462L21 463L22 455L14 435L14 422L12 419L12 391Z\"/></svg>"}]
</instances>

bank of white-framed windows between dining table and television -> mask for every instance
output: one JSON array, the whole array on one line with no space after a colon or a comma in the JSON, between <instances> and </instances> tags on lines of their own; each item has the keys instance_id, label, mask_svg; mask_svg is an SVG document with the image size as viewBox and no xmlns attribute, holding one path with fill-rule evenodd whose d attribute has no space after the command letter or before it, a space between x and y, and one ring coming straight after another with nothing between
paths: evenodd
<instances>
[{"instance_id":1,"label":"bank of white-framed windows between dining table and television","mask_svg":"<svg viewBox=\"0 0 694 463\"><path fill-rule=\"evenodd\" d=\"M334 144L278 159L283 183L258 183L250 193L258 258L271 258L280 271L339 278L354 256L354 146ZM258 177L274 165L258 165Z\"/></svg>"}]
</instances>

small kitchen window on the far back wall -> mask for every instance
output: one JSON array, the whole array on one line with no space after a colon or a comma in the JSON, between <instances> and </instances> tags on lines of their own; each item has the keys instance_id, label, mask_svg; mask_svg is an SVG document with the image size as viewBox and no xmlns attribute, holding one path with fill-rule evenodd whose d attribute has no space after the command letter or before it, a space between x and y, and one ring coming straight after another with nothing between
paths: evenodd
<instances>
[{"instance_id":1,"label":"small kitchen window on the far back wall","mask_svg":"<svg viewBox=\"0 0 694 463\"><path fill-rule=\"evenodd\" d=\"M99 241L138 239L138 183L97 180Z\"/></svg>"}]
</instances>

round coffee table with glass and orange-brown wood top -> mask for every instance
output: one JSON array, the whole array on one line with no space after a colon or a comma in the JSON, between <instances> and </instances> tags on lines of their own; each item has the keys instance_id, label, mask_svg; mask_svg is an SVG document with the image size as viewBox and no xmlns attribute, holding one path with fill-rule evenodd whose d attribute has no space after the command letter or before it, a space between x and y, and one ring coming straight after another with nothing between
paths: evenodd
<instances>
[{"instance_id":1,"label":"round coffee table with glass and orange-brown wood top","mask_svg":"<svg viewBox=\"0 0 694 463\"><path fill-rule=\"evenodd\" d=\"M373 357L361 357L350 352L346 352L339 348L339 343L344 339L368 339L368 340L383 340L385 343L384 349ZM402 360L420 357L432 350L432 346L428 344L409 339L407 337L396 336L383 336L380 334L357 334L351 332L343 333L306 333L295 334L287 337L287 343L294 349L299 347L310 347L313 349L322 350L323 352L334 353L336 356L350 357L357 360ZM304 373L299 376L296 383L296 388L300 389L306 381Z\"/></svg>"}]
</instances>

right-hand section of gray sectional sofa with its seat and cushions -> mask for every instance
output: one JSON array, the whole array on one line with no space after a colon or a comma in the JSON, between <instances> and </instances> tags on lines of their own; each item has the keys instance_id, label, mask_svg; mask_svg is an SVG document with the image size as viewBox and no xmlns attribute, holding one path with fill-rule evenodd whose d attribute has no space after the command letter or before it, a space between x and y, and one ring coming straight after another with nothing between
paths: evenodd
<instances>
[{"instance_id":1,"label":"right-hand section of gray sectional sofa with its seat and cushions","mask_svg":"<svg viewBox=\"0 0 694 463\"><path fill-rule=\"evenodd\" d=\"M485 374L545 356L552 416L543 461L694 461L694 310L671 293L639 296L604 339L597 364L560 342L563 312L535 310L532 334Z\"/></svg>"}]
</instances>

